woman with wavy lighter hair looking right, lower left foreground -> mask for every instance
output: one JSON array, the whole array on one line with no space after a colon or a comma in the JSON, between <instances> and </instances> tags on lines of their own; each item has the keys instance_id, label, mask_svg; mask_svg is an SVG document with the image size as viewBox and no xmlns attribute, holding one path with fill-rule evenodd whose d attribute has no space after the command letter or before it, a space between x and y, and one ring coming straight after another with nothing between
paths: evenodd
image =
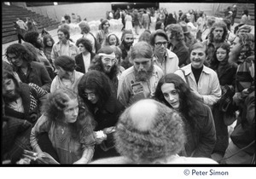
<instances>
[{"instance_id":1,"label":"woman with wavy lighter hair looking right, lower left foreground","mask_svg":"<svg viewBox=\"0 0 256 179\"><path fill-rule=\"evenodd\" d=\"M44 115L32 128L32 148L39 158L44 156L37 137L47 132L61 164L87 164L95 144L91 121L78 95L69 89L55 90L44 103Z\"/></svg>"}]
</instances>

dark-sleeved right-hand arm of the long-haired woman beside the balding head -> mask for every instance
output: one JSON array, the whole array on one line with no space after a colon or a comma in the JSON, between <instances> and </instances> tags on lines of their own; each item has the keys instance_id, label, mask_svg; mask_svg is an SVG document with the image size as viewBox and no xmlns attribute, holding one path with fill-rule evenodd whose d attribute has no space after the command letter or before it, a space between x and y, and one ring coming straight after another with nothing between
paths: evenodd
<instances>
[{"instance_id":1,"label":"dark-sleeved right-hand arm of the long-haired woman beside the balding head","mask_svg":"<svg viewBox=\"0 0 256 179\"><path fill-rule=\"evenodd\" d=\"M207 105L204 105L204 108L204 111L206 112L206 117L201 118L201 121L199 121L199 123L201 123L199 124L201 128L199 136L200 138L198 145L191 157L211 158L211 153L217 140L212 111L210 107L207 107Z\"/></svg>"}]
</instances>

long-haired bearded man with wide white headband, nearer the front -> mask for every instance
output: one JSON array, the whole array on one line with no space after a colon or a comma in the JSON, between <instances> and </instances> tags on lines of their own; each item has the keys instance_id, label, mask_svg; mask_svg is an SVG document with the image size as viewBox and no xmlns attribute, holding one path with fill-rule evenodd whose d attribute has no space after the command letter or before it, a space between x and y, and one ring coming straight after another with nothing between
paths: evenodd
<instances>
[{"instance_id":1,"label":"long-haired bearded man with wide white headband, nearer the front","mask_svg":"<svg viewBox=\"0 0 256 179\"><path fill-rule=\"evenodd\" d=\"M91 61L89 70L97 70L106 74L111 82L111 91L116 96L119 80L117 78L119 73L118 60L114 50L110 46L103 47L99 53Z\"/></svg>"}]
</instances>

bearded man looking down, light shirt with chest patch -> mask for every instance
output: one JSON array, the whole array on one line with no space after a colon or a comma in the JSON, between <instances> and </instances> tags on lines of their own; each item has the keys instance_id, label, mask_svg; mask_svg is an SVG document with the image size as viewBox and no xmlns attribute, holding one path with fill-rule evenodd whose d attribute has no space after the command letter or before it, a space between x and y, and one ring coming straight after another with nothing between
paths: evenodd
<instances>
[{"instance_id":1,"label":"bearded man looking down, light shirt with chest patch","mask_svg":"<svg viewBox=\"0 0 256 179\"><path fill-rule=\"evenodd\" d=\"M138 42L131 48L133 66L122 72L117 95L125 107L154 96L156 85L164 72L154 65L152 55L153 50L146 42Z\"/></svg>"}]
</instances>

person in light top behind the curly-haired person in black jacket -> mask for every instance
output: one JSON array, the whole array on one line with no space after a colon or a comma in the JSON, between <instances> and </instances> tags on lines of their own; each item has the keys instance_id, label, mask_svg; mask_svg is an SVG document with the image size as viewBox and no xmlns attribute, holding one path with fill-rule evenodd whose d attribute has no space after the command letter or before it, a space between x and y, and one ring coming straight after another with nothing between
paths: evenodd
<instances>
[{"instance_id":1,"label":"person in light top behind the curly-haired person in black jacket","mask_svg":"<svg viewBox=\"0 0 256 179\"><path fill-rule=\"evenodd\" d=\"M82 38L87 38L87 39L89 39L90 40L90 43L91 43L91 47L92 47L92 52L93 53L96 53L96 47L95 47L95 45L96 45L96 38L93 36L93 34L91 34L91 32L90 32L90 26L89 26L89 24L88 24L88 22L87 21L81 21L80 23L79 23L79 27L80 27L80 29L81 29L81 33L83 34L83 37Z\"/></svg>"}]
</instances>

